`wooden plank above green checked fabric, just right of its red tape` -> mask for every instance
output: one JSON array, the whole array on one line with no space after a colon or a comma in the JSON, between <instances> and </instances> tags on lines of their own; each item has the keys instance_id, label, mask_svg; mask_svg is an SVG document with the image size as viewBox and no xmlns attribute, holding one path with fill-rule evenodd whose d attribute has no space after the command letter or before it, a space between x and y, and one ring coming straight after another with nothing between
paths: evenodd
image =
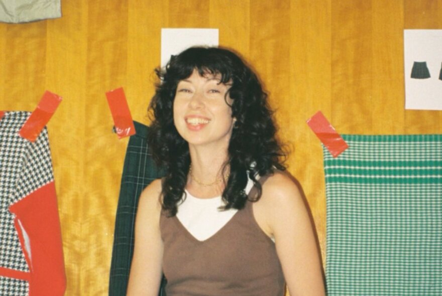
<instances>
[{"instance_id":1,"label":"wooden plank above green checked fabric, just right of its red tape","mask_svg":"<svg viewBox=\"0 0 442 296\"><path fill-rule=\"evenodd\" d=\"M372 133L371 23L370 1L333 3L332 114L325 115L341 133Z\"/></svg>"}]
</instances>

